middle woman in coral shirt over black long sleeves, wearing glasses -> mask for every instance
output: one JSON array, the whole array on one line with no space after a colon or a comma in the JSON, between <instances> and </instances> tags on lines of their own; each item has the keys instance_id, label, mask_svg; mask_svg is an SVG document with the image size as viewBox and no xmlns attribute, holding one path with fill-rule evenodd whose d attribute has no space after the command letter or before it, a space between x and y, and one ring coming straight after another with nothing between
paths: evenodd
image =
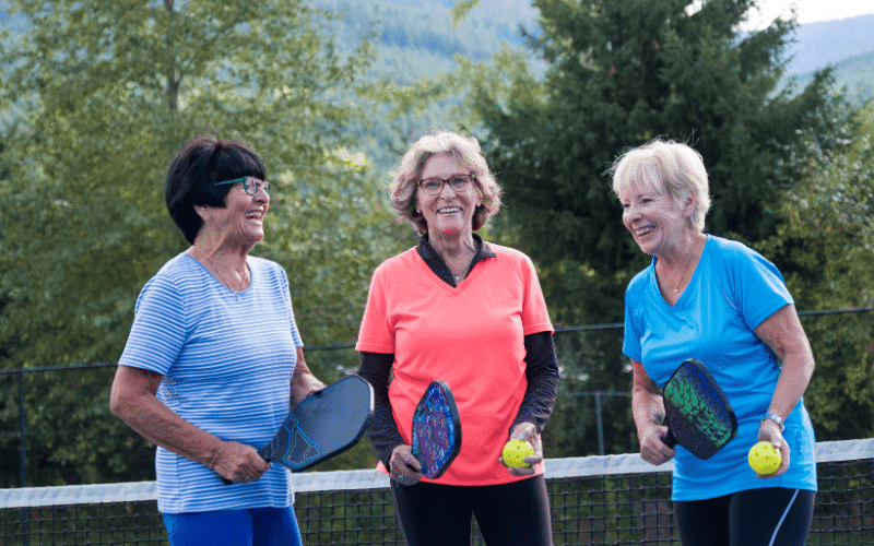
<instances>
[{"instance_id":1,"label":"middle woman in coral shirt over black long sleeves, wearing glasses","mask_svg":"<svg viewBox=\"0 0 874 546\"><path fill-rule=\"evenodd\" d=\"M390 193L422 238L374 273L356 349L377 393L368 438L404 539L466 545L475 517L489 546L552 544L541 443L558 381L552 323L531 260L473 233L498 211L500 188L475 139L439 132L410 147ZM434 380L452 389L463 438L429 479L410 443ZM525 467L503 464L510 439L533 446Z\"/></svg>"}]
</instances>

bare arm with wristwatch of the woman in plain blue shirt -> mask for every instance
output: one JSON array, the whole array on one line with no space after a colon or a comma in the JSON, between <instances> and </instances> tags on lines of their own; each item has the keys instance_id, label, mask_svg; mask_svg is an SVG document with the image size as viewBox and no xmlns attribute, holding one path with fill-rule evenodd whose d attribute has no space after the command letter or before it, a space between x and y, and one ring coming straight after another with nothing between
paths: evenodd
<instances>
[{"instance_id":1,"label":"bare arm with wristwatch of the woman in plain blue shirt","mask_svg":"<svg viewBox=\"0 0 874 546\"><path fill-rule=\"evenodd\" d=\"M814 370L814 358L807 335L799 320L795 306L787 305L765 319L754 331L765 342L781 363L780 377L773 390L768 413L786 419L798 405ZM766 440L780 450L782 462L771 477L779 476L789 468L790 449L777 423L766 419L761 422L758 439Z\"/></svg>"}]
</instances>

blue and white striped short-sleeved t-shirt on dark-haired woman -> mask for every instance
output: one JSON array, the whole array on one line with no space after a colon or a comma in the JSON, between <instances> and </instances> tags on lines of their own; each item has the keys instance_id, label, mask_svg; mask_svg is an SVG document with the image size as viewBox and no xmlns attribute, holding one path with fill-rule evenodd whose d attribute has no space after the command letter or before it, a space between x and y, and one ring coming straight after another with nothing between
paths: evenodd
<instances>
[{"instance_id":1,"label":"blue and white striped short-sleeved t-shirt on dark-haired woman","mask_svg":"<svg viewBox=\"0 0 874 546\"><path fill-rule=\"evenodd\" d=\"M182 253L143 287L119 365L164 376L157 397L223 440L267 444L288 414L296 347L288 280L282 268L249 257L251 284L235 293ZM190 459L157 448L158 510L165 513L291 506L288 471L226 486Z\"/></svg>"}]
</instances>

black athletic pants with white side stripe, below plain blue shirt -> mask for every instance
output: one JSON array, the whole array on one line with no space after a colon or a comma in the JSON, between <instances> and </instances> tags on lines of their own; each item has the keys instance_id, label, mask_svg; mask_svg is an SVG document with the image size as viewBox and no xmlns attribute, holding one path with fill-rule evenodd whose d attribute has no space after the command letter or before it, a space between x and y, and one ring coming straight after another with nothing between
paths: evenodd
<instances>
[{"instance_id":1,"label":"black athletic pants with white side stripe, below plain blue shirt","mask_svg":"<svg viewBox=\"0 0 874 546\"><path fill-rule=\"evenodd\" d=\"M816 494L770 487L674 502L683 546L804 546Z\"/></svg>"}]
</instances>

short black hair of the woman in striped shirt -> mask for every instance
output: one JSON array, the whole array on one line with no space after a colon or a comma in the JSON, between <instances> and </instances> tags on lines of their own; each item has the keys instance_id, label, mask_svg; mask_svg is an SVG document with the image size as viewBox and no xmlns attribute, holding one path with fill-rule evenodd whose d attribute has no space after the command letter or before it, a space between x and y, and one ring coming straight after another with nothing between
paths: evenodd
<instances>
[{"instance_id":1,"label":"short black hair of the woman in striped shirt","mask_svg":"<svg viewBox=\"0 0 874 546\"><path fill-rule=\"evenodd\" d=\"M224 209L232 186L216 186L216 182L247 176L263 180L267 173L261 156L243 141L224 141L221 135L205 134L176 154L167 171L164 198L188 242L194 244L203 225L194 205Z\"/></svg>"}]
</instances>

